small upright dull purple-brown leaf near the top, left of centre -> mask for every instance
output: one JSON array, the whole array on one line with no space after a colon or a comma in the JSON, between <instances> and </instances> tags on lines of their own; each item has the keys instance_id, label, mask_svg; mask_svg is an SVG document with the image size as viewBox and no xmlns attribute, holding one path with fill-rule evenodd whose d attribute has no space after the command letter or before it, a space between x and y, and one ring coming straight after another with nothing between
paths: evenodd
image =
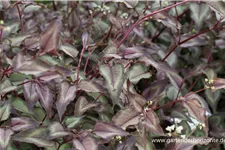
<instances>
[{"instance_id":1,"label":"small upright dull purple-brown leaf near the top, left of centre","mask_svg":"<svg viewBox=\"0 0 225 150\"><path fill-rule=\"evenodd\" d=\"M79 13L78 13L76 7L74 7L69 14L68 24L69 24L70 28L77 28L81 24L81 21L80 21L80 18L79 18Z\"/></svg>"}]
</instances>

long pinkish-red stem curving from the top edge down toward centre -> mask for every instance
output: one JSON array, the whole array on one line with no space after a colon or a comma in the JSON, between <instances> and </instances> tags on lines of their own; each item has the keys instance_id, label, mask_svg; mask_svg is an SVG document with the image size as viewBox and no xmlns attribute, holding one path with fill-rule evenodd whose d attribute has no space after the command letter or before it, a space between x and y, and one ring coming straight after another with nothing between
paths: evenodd
<instances>
[{"instance_id":1,"label":"long pinkish-red stem curving from the top edge down toward centre","mask_svg":"<svg viewBox=\"0 0 225 150\"><path fill-rule=\"evenodd\" d=\"M182 5L184 3L187 3L191 0L184 0L183 2L179 2L179 3L176 3L174 5L171 5L171 6L168 6L166 8L163 8L163 9L160 9L160 10L156 10L148 15L145 15L143 16L142 18L138 19L129 29L128 31L126 32L126 34L124 35L124 37L122 38L122 40L119 42L119 44L117 45L117 48L120 47L120 45L123 43L123 41L129 36L130 32L142 21L142 20L145 20L146 18L149 18L150 16L154 15L154 14L157 14L157 13L160 13L160 12L163 12L165 10L169 10L173 7L176 7L176 6L179 6L179 5Z\"/></svg>"}]
</instances>

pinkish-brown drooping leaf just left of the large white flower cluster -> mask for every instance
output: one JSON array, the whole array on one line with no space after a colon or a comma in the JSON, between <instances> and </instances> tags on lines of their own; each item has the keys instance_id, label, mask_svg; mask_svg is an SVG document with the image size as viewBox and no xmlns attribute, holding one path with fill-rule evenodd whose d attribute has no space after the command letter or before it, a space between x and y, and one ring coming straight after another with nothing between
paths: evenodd
<instances>
[{"instance_id":1,"label":"pinkish-brown drooping leaf just left of the large white flower cluster","mask_svg":"<svg viewBox=\"0 0 225 150\"><path fill-rule=\"evenodd\" d=\"M155 112L153 110L149 110L145 114L146 115L142 123L145 125L146 129L156 135L164 135L163 129L160 126L159 118Z\"/></svg>"}]
</instances>

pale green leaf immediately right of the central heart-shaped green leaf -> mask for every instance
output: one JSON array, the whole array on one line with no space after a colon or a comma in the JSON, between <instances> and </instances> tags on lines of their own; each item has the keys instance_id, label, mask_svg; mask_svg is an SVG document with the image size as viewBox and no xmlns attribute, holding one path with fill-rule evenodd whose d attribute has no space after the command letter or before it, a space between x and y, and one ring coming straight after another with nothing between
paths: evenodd
<instances>
[{"instance_id":1,"label":"pale green leaf immediately right of the central heart-shaped green leaf","mask_svg":"<svg viewBox=\"0 0 225 150\"><path fill-rule=\"evenodd\" d=\"M148 72L147 68L140 64L132 66L127 73L127 77L133 84L137 84L141 79L148 79L151 76L152 75L150 72Z\"/></svg>"}]
</instances>

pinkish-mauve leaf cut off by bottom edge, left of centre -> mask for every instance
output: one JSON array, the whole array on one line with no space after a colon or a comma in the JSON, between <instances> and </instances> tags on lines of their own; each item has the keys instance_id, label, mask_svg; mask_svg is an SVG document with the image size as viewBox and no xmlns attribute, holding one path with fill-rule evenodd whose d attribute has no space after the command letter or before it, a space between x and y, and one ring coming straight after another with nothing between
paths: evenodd
<instances>
[{"instance_id":1,"label":"pinkish-mauve leaf cut off by bottom edge, left of centre","mask_svg":"<svg viewBox=\"0 0 225 150\"><path fill-rule=\"evenodd\" d=\"M74 139L73 146L78 150L98 150L96 140L89 135L80 139Z\"/></svg>"}]
</instances>

